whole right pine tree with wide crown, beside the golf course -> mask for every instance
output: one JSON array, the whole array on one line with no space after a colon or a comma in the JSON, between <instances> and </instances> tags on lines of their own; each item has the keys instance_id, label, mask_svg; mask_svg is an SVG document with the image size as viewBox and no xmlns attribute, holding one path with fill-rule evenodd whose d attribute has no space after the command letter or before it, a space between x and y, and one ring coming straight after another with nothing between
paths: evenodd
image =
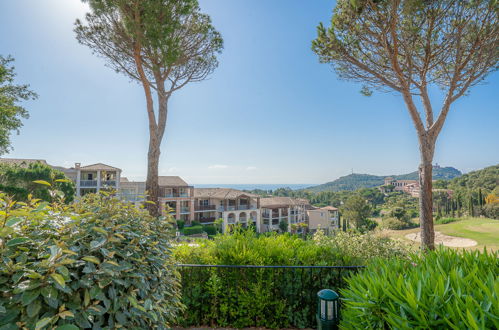
<instances>
[{"instance_id":1,"label":"whole right pine tree with wide crown, beside the golf course","mask_svg":"<svg viewBox=\"0 0 499 330\"><path fill-rule=\"evenodd\" d=\"M416 128L421 163L422 246L435 248L432 161L451 105L497 70L497 1L338 0L331 26L318 26L313 51L362 91L402 95ZM444 94L437 102L429 90ZM419 100L419 102L418 102Z\"/></svg>"}]
</instances>

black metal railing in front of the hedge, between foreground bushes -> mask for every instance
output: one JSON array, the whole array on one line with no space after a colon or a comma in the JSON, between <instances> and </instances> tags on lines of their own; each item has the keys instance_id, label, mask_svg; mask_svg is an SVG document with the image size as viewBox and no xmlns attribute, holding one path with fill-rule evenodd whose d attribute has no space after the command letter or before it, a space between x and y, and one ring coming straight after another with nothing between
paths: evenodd
<instances>
[{"instance_id":1,"label":"black metal railing in front of the hedge, between foreground bushes","mask_svg":"<svg viewBox=\"0 0 499 330\"><path fill-rule=\"evenodd\" d=\"M317 292L339 292L364 266L177 265L182 326L316 327ZM264 304L265 306L261 306ZM255 312L252 306L260 306ZM255 307L256 308L256 307Z\"/></svg>"}]
</instances>

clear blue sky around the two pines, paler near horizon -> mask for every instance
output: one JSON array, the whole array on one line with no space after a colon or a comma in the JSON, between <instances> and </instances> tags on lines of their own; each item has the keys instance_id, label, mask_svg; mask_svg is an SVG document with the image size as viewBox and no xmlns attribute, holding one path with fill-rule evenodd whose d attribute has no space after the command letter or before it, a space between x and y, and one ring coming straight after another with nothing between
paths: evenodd
<instances>
[{"instance_id":1,"label":"clear blue sky around the two pines, paler near horizon","mask_svg":"<svg viewBox=\"0 0 499 330\"><path fill-rule=\"evenodd\" d=\"M414 171L416 134L400 96L364 97L310 50L330 0L201 0L225 49L209 80L171 100L160 174L195 183L323 183L351 173ZM5 157L103 162L144 179L142 89L79 45L78 0L0 2L0 54L39 99ZM498 163L499 74L454 104L435 162L470 171ZM438 99L438 93L435 98Z\"/></svg>"}]
</instances>

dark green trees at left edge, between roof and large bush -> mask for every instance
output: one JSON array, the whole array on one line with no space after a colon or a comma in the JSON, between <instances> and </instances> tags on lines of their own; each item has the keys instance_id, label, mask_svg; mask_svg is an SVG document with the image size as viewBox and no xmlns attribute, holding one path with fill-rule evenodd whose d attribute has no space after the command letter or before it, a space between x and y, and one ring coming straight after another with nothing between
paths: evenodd
<instances>
[{"instance_id":1,"label":"dark green trees at left edge, between roof and large bush","mask_svg":"<svg viewBox=\"0 0 499 330\"><path fill-rule=\"evenodd\" d=\"M73 201L75 186L63 172L41 162L29 164L0 163L0 192L13 196L16 201L27 201L31 194L33 198L52 201L51 187L35 181L45 181L60 191L66 203ZM62 195L61 195L62 196Z\"/></svg>"}]
</instances>

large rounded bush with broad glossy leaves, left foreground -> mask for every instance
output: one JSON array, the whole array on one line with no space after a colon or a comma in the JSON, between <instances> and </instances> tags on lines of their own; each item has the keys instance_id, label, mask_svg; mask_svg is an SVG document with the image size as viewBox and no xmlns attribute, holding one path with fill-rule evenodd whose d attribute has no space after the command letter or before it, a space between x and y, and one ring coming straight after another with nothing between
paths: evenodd
<instances>
[{"instance_id":1,"label":"large rounded bush with broad glossy leaves, left foreground","mask_svg":"<svg viewBox=\"0 0 499 330\"><path fill-rule=\"evenodd\" d=\"M169 221L103 195L0 210L0 328L165 328L181 309Z\"/></svg>"}]
</instances>

